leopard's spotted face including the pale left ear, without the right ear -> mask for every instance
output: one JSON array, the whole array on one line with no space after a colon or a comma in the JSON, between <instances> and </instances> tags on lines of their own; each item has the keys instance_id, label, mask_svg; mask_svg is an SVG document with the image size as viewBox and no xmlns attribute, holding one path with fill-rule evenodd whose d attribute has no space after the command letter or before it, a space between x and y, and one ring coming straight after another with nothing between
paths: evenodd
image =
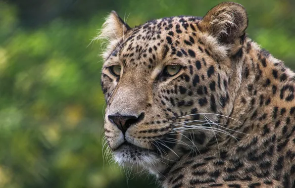
<instances>
[{"instance_id":1,"label":"leopard's spotted face including the pale left ear, without the right ear","mask_svg":"<svg viewBox=\"0 0 295 188\"><path fill-rule=\"evenodd\" d=\"M182 16L130 28L115 12L107 19L104 128L119 164L152 168L176 160L208 141L214 114L228 111L230 47L202 22Z\"/></svg>"}]
</instances>

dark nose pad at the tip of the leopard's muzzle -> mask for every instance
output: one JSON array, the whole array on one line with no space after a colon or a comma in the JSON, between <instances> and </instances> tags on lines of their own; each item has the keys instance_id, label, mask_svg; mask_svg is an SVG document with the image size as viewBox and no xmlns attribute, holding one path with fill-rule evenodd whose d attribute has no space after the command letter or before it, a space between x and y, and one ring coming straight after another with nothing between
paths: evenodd
<instances>
[{"instance_id":1,"label":"dark nose pad at the tip of the leopard's muzzle","mask_svg":"<svg viewBox=\"0 0 295 188\"><path fill-rule=\"evenodd\" d=\"M144 119L145 113L141 113L138 117L133 115L122 115L120 113L116 113L114 115L108 115L108 119L116 124L116 126L123 132L123 134L127 131L127 129L136 123L139 123Z\"/></svg>"}]
</instances>

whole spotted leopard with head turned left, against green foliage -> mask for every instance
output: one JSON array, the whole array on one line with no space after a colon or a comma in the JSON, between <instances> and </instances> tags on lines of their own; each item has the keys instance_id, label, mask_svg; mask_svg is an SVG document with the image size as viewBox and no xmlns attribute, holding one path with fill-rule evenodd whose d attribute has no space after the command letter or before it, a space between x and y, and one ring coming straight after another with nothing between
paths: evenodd
<instances>
[{"instance_id":1,"label":"whole spotted leopard with head turned left, against green foliage","mask_svg":"<svg viewBox=\"0 0 295 188\"><path fill-rule=\"evenodd\" d=\"M119 166L162 188L295 188L295 73L247 26L235 2L134 27L106 17L104 139Z\"/></svg>"}]
</instances>

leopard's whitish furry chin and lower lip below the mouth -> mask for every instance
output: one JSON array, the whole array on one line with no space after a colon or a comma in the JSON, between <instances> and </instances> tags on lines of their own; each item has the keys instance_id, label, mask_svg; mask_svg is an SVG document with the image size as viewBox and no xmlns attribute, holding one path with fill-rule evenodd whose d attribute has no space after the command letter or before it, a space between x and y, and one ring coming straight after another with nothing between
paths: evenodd
<instances>
[{"instance_id":1,"label":"leopard's whitish furry chin and lower lip below the mouth","mask_svg":"<svg viewBox=\"0 0 295 188\"><path fill-rule=\"evenodd\" d=\"M150 168L156 166L160 162L157 154L151 150L138 147L128 142L124 142L114 151L115 161L126 167L142 167Z\"/></svg>"}]
</instances>

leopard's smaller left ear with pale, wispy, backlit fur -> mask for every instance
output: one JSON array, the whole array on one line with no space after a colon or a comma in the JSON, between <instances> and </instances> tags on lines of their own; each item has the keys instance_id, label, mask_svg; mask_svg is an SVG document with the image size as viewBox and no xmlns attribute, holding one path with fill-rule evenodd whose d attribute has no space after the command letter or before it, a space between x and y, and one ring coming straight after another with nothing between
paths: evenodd
<instances>
[{"instance_id":1,"label":"leopard's smaller left ear with pale, wispy, backlit fur","mask_svg":"<svg viewBox=\"0 0 295 188\"><path fill-rule=\"evenodd\" d=\"M117 40L130 30L122 18L114 10L106 17L105 22L102 24L101 32L98 38L107 39L109 41Z\"/></svg>"}]
</instances>

